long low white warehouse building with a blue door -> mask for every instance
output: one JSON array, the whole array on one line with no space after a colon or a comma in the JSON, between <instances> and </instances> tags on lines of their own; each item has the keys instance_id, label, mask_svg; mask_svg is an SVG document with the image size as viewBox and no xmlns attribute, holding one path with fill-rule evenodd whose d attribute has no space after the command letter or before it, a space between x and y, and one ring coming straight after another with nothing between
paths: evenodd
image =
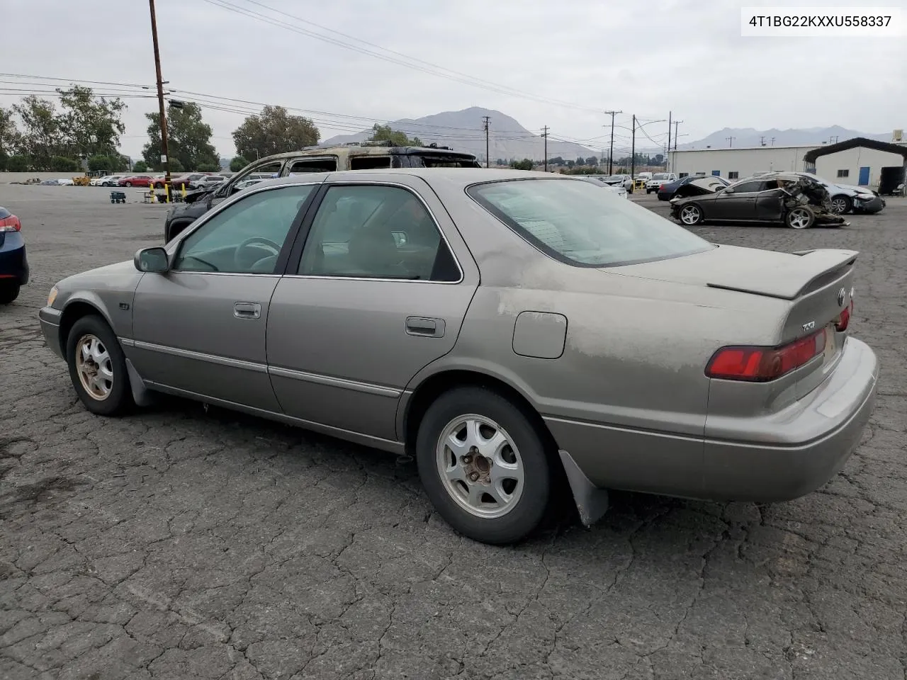
<instances>
[{"instance_id":1,"label":"long low white warehouse building with a blue door","mask_svg":"<svg viewBox=\"0 0 907 680\"><path fill-rule=\"evenodd\" d=\"M772 170L814 172L825 180L840 184L879 187L890 184L901 169L907 169L907 141L896 130L891 142L861 137L836 144L800 146L759 146L738 149L688 149L671 151L670 170L678 177L720 175L726 180L743 180L757 172Z\"/></svg>"}]
</instances>

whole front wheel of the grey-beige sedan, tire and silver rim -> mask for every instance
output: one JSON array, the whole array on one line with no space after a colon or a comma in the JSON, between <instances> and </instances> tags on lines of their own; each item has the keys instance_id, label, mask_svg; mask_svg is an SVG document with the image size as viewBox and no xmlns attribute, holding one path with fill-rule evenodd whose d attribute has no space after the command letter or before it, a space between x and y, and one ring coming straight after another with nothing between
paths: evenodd
<instances>
[{"instance_id":1,"label":"whole front wheel of the grey-beige sedan, tire and silver rim","mask_svg":"<svg viewBox=\"0 0 907 680\"><path fill-rule=\"evenodd\" d=\"M98 415L119 415L132 406L126 357L100 316L83 316L66 341L66 361L75 393Z\"/></svg>"}]
</instances>

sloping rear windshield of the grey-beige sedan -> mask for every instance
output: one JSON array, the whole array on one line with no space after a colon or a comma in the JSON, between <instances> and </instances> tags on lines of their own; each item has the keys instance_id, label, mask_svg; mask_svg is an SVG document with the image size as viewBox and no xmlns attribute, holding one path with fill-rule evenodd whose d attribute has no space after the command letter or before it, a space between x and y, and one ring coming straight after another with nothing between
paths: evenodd
<instances>
[{"instance_id":1,"label":"sloping rear windshield of the grey-beige sedan","mask_svg":"<svg viewBox=\"0 0 907 680\"><path fill-rule=\"evenodd\" d=\"M467 193L542 252L579 267L618 267L714 248L588 181L496 181Z\"/></svg>"}]
</instances>

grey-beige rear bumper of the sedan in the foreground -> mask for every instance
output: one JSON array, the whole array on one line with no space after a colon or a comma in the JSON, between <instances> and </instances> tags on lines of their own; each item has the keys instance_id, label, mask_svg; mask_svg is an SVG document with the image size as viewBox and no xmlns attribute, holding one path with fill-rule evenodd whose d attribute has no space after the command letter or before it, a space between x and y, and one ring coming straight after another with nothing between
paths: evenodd
<instances>
[{"instance_id":1,"label":"grey-beige rear bumper of the sedan in the foreground","mask_svg":"<svg viewBox=\"0 0 907 680\"><path fill-rule=\"evenodd\" d=\"M708 416L705 437L545 416L590 483L706 500L774 502L815 491L844 467L873 412L879 363L848 338L834 373L779 413Z\"/></svg>"}]
</instances>

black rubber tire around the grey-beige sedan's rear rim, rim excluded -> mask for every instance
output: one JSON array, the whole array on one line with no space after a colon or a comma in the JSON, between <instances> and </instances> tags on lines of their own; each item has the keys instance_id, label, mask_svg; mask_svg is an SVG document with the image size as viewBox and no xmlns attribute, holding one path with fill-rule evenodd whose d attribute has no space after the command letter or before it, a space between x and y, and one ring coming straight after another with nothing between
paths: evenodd
<instances>
[{"instance_id":1,"label":"black rubber tire around the grey-beige sedan's rear rim, rim excluded","mask_svg":"<svg viewBox=\"0 0 907 680\"><path fill-rule=\"evenodd\" d=\"M512 509L500 517L483 518L463 509L453 500L438 471L438 440L449 423L466 414L499 424L519 451L522 492L512 501ZM470 539L493 545L514 543L536 529L545 516L551 497L551 469L544 438L528 414L499 393L482 387L460 387L442 394L419 424L415 453L419 476L435 510Z\"/></svg>"}]
</instances>

